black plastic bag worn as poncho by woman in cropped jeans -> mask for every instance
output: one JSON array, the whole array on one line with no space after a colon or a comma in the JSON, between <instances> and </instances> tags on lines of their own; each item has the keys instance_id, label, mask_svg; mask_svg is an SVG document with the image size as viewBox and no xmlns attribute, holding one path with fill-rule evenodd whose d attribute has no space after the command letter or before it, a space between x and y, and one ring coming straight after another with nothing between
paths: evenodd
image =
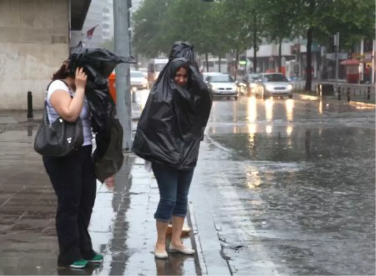
<instances>
[{"instance_id":1,"label":"black plastic bag worn as poncho by woman in cropped jeans","mask_svg":"<svg viewBox=\"0 0 376 276\"><path fill-rule=\"evenodd\" d=\"M176 43L175 47L185 54L175 51L179 57L170 58L159 74L141 113L132 151L150 162L188 170L197 163L212 95L192 61L193 46ZM186 64L188 84L183 88L174 82L174 75Z\"/></svg>"}]
</instances>

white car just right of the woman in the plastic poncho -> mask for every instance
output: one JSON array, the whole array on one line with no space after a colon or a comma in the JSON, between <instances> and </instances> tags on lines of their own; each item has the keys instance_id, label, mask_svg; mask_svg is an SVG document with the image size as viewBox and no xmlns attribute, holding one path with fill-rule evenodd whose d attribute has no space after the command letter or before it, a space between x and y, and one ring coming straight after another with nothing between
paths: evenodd
<instances>
[{"instance_id":1,"label":"white car just right of the woman in the plastic poncho","mask_svg":"<svg viewBox=\"0 0 376 276\"><path fill-rule=\"evenodd\" d=\"M206 83L213 91L213 95L221 98L238 99L240 89L237 82L228 74L213 74L205 78Z\"/></svg>"}]
</instances>

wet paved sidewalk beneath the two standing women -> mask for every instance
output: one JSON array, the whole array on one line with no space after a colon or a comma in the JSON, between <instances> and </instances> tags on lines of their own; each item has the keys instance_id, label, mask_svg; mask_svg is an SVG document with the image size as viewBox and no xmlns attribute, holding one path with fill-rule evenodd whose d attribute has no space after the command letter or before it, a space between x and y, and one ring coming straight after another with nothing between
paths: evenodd
<instances>
[{"instance_id":1,"label":"wet paved sidewalk beneath the two standing women","mask_svg":"<svg viewBox=\"0 0 376 276\"><path fill-rule=\"evenodd\" d=\"M159 195L143 161L126 156L113 181L97 183L90 233L102 266L84 271L57 268L56 196L41 157L33 150L36 129L0 133L0 275L197 275L197 257L156 261L153 213ZM30 135L31 134L31 135ZM191 239L184 241L188 246Z\"/></svg>"}]
</instances>

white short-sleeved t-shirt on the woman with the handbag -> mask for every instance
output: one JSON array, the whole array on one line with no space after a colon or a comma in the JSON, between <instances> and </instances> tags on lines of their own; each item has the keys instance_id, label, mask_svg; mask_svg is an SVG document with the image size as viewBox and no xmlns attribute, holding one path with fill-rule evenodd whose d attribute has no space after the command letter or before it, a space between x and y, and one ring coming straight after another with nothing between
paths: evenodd
<instances>
[{"instance_id":1,"label":"white short-sleeved t-shirt on the woman with the handbag","mask_svg":"<svg viewBox=\"0 0 376 276\"><path fill-rule=\"evenodd\" d=\"M74 91L68 88L68 86L60 80L56 80L51 82L48 90L47 90L47 114L48 114L48 119L50 121L50 124L55 122L56 119L60 117L59 113L53 108L50 98L53 92L57 90L63 90L67 91L67 93L70 96L74 96ZM83 146L91 145L91 140L92 140L92 131L91 131L91 122L90 122L90 112L89 112L89 104L88 101L86 100L86 97L83 102L83 107L80 113L80 118L82 120L82 127L83 127Z\"/></svg>"}]
</instances>

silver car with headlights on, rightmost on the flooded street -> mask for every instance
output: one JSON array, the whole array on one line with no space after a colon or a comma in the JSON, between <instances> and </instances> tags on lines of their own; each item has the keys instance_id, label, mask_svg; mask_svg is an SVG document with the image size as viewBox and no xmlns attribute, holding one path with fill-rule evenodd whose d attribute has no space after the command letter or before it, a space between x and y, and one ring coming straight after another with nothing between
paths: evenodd
<instances>
[{"instance_id":1,"label":"silver car with headlights on, rightmost on the flooded street","mask_svg":"<svg viewBox=\"0 0 376 276\"><path fill-rule=\"evenodd\" d=\"M290 84L284 74L262 73L259 75L255 88L256 97L267 99L271 97L293 98L293 85Z\"/></svg>"}]
</instances>

